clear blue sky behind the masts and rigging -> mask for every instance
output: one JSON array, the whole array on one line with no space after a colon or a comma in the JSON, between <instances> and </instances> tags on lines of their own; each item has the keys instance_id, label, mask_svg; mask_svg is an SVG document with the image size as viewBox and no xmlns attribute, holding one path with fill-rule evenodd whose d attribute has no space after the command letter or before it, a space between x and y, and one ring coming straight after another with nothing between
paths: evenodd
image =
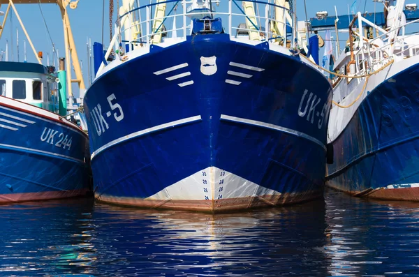
<instances>
[{"instance_id":1,"label":"clear blue sky behind the masts and rigging","mask_svg":"<svg viewBox=\"0 0 419 277\"><path fill-rule=\"evenodd\" d=\"M117 0L115 0L117 1ZM122 0L121 0L122 1ZM304 20L304 1L294 0L297 3L297 19ZM80 0L78 8L75 10L68 9L70 16L71 27L73 29L73 36L75 38L75 44L77 47L79 59L83 62L83 75L84 82L88 84L87 80L87 38L91 38L91 42L101 42L102 40L102 0ZM225 0L221 0L221 7L223 4L226 5ZM365 6L365 2L367 5ZM104 41L109 42L109 20L108 20L108 3L109 0L105 0L105 31ZM146 3L145 0L140 1L141 4ZM147 1L148 3L148 1ZM413 1L406 1L406 3L414 3ZM335 15L335 5L337 11L341 15L346 15L348 11L348 5L351 7L353 0L307 0L307 14L308 17L314 17L317 11L327 10L329 15ZM115 3L115 10L116 10ZM364 7L368 12L374 12L374 2L372 0L358 0L357 6L359 10L364 11ZM7 5L3 4L0 10L5 11ZM221 8L220 7L220 8ZM46 64L47 53L50 55L50 63L52 63L52 44L50 38L45 29L43 18L41 16L40 8L38 4L16 4L16 8L25 27L31 37L32 42L36 47L36 51L42 51L44 54L44 64ZM64 57L64 36L63 27L61 24L61 15L59 8L55 4L43 4L41 5L47 27L50 30L50 34L56 48L59 50L59 56ZM218 8L218 10L220 10ZM377 11L382 11L383 6L381 3L376 4ZM116 12L115 12L116 13ZM0 17L2 21L2 17ZM10 24L12 23L12 24ZM11 35L13 34L13 56L17 61L17 49L16 49L16 29L19 29L19 45L20 45L20 61L23 60L23 40L26 40L20 24L17 21L15 15L12 16L12 22L8 18L3 36L0 38L0 50L6 49L6 40L8 40L9 57L11 56ZM61 50L61 52L60 52ZM27 43L27 61L35 62L29 43Z\"/></svg>"}]
</instances>

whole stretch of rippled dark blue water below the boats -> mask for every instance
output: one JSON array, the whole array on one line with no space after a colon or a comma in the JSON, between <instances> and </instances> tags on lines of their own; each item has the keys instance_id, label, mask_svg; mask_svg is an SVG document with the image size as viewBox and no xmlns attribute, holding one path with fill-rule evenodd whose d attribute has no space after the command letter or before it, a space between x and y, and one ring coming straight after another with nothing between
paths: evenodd
<instances>
[{"instance_id":1,"label":"whole stretch of rippled dark blue water below the boats","mask_svg":"<svg viewBox=\"0 0 419 277\"><path fill-rule=\"evenodd\" d=\"M220 216L15 204L0 206L0 222L0 276L419 276L419 203L333 190Z\"/></svg>"}]
</instances>

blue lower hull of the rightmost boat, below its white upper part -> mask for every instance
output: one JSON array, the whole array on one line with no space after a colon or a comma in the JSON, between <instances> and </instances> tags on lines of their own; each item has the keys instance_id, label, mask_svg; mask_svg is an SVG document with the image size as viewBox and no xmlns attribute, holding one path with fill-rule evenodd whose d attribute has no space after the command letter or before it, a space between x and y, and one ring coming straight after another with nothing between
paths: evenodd
<instances>
[{"instance_id":1,"label":"blue lower hull of the rightmost boat, below its white upper part","mask_svg":"<svg viewBox=\"0 0 419 277\"><path fill-rule=\"evenodd\" d=\"M385 200L419 200L419 65L379 84L333 142L328 186Z\"/></svg>"}]
</instances>

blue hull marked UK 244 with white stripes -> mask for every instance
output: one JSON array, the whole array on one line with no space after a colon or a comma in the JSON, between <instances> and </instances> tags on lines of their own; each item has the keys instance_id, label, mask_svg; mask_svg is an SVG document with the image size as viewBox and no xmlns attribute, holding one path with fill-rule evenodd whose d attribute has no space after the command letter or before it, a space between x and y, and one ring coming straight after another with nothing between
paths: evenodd
<instances>
[{"instance_id":1,"label":"blue hull marked UK 244 with white stripes","mask_svg":"<svg viewBox=\"0 0 419 277\"><path fill-rule=\"evenodd\" d=\"M0 204L89 193L89 140L82 130L3 97L0 121Z\"/></svg>"}]
</instances>

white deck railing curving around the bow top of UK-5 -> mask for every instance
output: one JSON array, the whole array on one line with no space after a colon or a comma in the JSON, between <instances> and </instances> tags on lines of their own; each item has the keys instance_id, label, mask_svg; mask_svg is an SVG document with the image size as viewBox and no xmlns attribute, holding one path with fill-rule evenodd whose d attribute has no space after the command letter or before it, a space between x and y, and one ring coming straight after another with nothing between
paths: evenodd
<instances>
[{"instance_id":1,"label":"white deck railing curving around the bow top of UK-5","mask_svg":"<svg viewBox=\"0 0 419 277\"><path fill-rule=\"evenodd\" d=\"M240 36L240 32L249 34L257 32L256 40L261 42L270 41L279 45L295 47L297 41L297 32L293 29L293 22L296 22L295 13L291 13L288 8L275 4L274 1L228 0L228 5L224 6L221 12L216 11L216 8L220 8L216 7L220 3L218 0L212 1L212 12L210 10L196 10L193 13L194 8L191 6L193 1L179 0L159 1L133 8L118 18L115 24L115 36L111 40L105 59L108 59L112 50L120 49L124 51L126 44L129 45L130 50L156 44L153 37L159 34L164 36L164 40L186 38L192 32L191 17L203 17L205 15L213 18L220 17L223 22L224 33L229 33L230 36L246 39L245 36ZM255 11L253 16L244 13L242 8L244 2L252 3ZM162 4L166 4L165 16L154 18L154 10ZM276 18L275 13L277 13L277 17L281 15L282 18ZM132 24L124 29L124 22L128 19ZM153 30L156 21L161 22L161 24ZM240 24L246 22L248 22L247 26L239 27ZM124 37L126 30L131 31L130 38ZM239 35L234 32L239 33ZM124 45L123 49L121 49L122 45ZM101 68L103 67L102 64ZM98 72L100 71L101 69Z\"/></svg>"}]
</instances>

